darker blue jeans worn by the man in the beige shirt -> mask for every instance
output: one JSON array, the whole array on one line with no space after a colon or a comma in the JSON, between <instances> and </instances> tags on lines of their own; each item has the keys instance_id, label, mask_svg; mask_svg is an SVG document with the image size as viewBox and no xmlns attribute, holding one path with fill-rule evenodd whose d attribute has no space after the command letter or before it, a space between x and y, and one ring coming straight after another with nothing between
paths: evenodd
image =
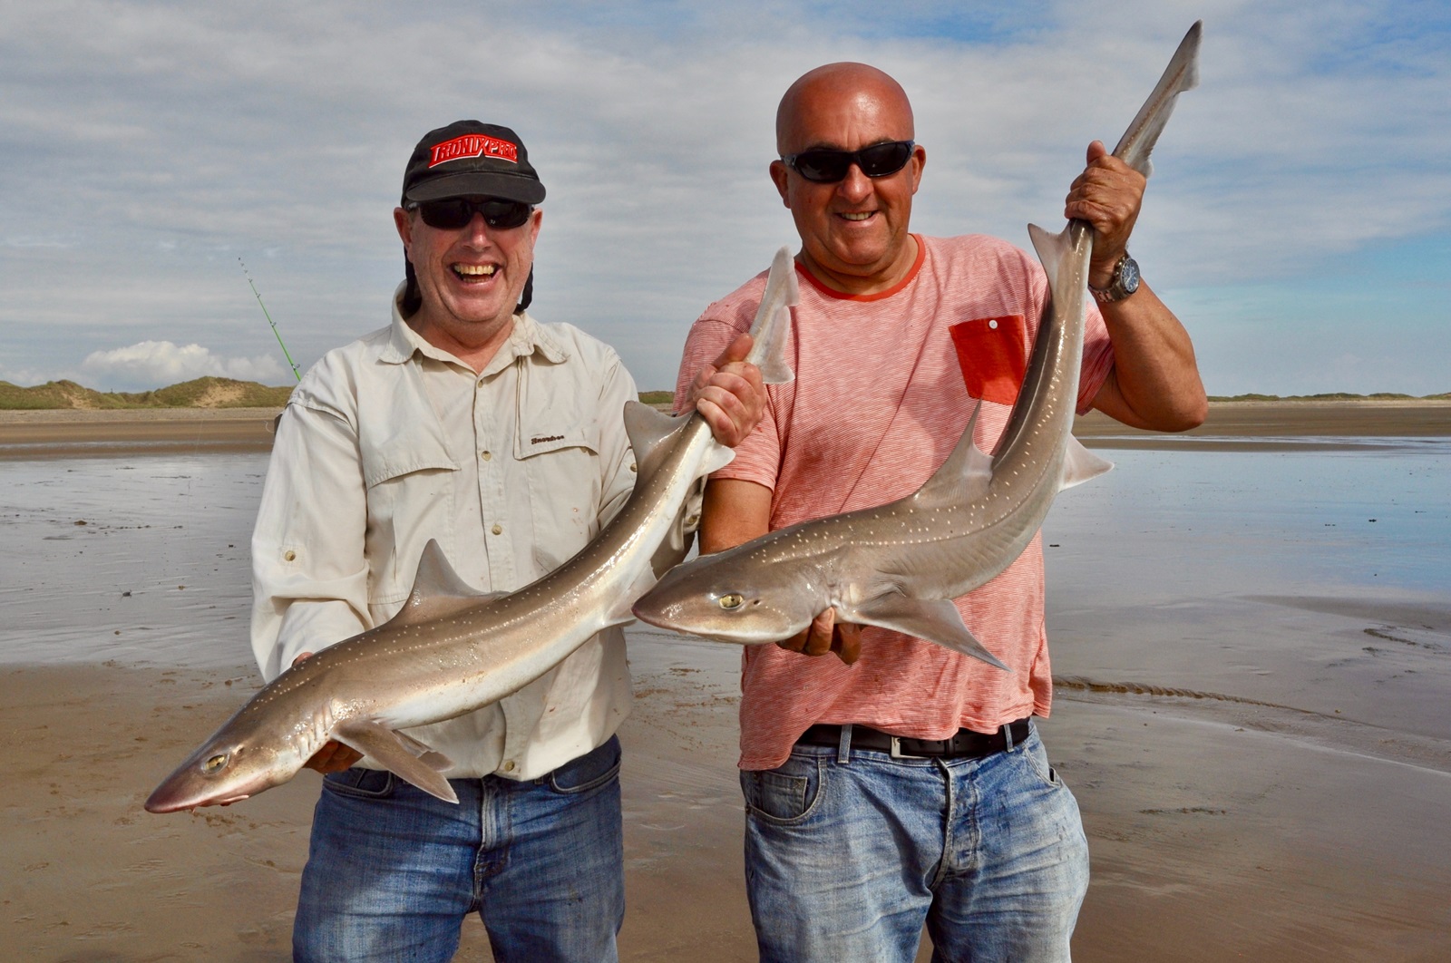
<instances>
[{"instance_id":1,"label":"darker blue jeans worn by the man in the beige shirt","mask_svg":"<svg viewBox=\"0 0 1451 963\"><path fill-rule=\"evenodd\" d=\"M477 911L499 963L617 960L624 921L620 740L548 776L324 780L293 924L296 960L451 960Z\"/></svg>"}]
</instances>

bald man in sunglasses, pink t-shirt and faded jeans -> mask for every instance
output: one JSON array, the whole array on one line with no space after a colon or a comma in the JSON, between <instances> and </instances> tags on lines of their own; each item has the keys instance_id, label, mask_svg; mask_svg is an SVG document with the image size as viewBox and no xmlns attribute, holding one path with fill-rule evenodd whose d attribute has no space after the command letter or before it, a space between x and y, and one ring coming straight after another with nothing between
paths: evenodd
<instances>
[{"instance_id":1,"label":"bald man in sunglasses, pink t-shirt and faded jeans","mask_svg":"<svg viewBox=\"0 0 1451 963\"><path fill-rule=\"evenodd\" d=\"M797 380L707 489L702 551L914 492L981 400L992 451L1024 374L1048 283L994 238L911 233L927 162L891 77L829 64L776 113L770 178L801 235ZM1143 178L1088 146L1064 215L1096 233L1080 410L1181 431L1204 418L1188 335L1139 281L1127 241ZM755 316L765 276L711 305L681 365L695 371ZM746 880L762 960L1066 960L1088 885L1072 793L1033 716L1052 677L1035 538L958 599L1004 673L827 609L779 647L747 648L741 698ZM821 658L834 653L834 657Z\"/></svg>"}]
</instances>

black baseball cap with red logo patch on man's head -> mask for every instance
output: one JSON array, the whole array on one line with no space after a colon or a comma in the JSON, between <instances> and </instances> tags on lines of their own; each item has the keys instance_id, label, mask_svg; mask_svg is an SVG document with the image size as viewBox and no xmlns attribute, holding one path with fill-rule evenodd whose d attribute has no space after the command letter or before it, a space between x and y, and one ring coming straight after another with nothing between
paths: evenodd
<instances>
[{"instance_id":1,"label":"black baseball cap with red logo patch on man's head","mask_svg":"<svg viewBox=\"0 0 1451 963\"><path fill-rule=\"evenodd\" d=\"M519 135L477 120L454 120L424 135L403 171L403 206L466 196L544 200Z\"/></svg>"}]
</instances>

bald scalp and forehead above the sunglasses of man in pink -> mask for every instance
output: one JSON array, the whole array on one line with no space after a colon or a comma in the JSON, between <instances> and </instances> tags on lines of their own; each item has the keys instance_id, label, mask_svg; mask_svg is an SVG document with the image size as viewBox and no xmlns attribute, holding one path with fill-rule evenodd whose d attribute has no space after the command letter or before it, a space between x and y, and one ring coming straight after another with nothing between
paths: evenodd
<instances>
[{"instance_id":1,"label":"bald scalp and forehead above the sunglasses of man in pink","mask_svg":"<svg viewBox=\"0 0 1451 963\"><path fill-rule=\"evenodd\" d=\"M868 64L824 64L791 84L776 107L776 151L795 154L808 146L827 146L802 142L824 117L840 117L849 126L889 128L895 132L894 139L916 136L907 91Z\"/></svg>"}]
</instances>

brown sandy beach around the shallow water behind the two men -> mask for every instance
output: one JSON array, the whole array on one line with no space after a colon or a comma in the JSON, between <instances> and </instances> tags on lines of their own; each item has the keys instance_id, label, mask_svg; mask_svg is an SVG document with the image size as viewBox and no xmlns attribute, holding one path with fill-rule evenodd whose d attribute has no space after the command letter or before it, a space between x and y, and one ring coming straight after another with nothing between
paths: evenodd
<instances>
[{"instance_id":1,"label":"brown sandy beach around the shallow water behind the two men","mask_svg":"<svg viewBox=\"0 0 1451 963\"><path fill-rule=\"evenodd\" d=\"M266 451L274 415L3 412L0 460ZM1093 416L1080 419L1078 434L1117 448L1362 450L1451 437L1451 403L1216 405L1185 437L1164 439ZM144 537L120 529L106 535ZM245 544L226 548L241 553ZM28 571L36 570L15 557L6 563L7 600L23 600L20 582L44 582L52 570ZM1058 690L1040 728L1080 801L1093 853L1077 960L1451 959L1444 592L1431 605L1302 592L1125 611L1122 618L1149 625L1162 618L1206 645L1225 640L1203 669L1190 661L1180 674L1171 667L1136 680L1106 669L1116 664L1113 642L1090 648L1096 624L1077 616L1081 602L1066 586L1055 592L1056 571L1051 564ZM180 589L138 589L123 616L107 602L90 618L100 631L115 622L116 635L129 635L138 622L174 618L173 599L205 584ZM226 599L200 596L232 609L207 618L245 619L245 592L239 584ZM1245 641L1254 631L1290 640L1287 651L1300 656L1245 669L1257 658L1255 640ZM1306 656L1293 648L1300 637L1333 637L1355 658ZM630 638L636 705L621 731L621 959L753 960L734 772L739 653L649 629ZM302 773L229 808L167 817L141 808L157 780L255 690L244 656L209 669L0 663L6 959L287 959L318 776ZM1262 682L1228 692L1225 680L1241 676L1225 673L1241 670ZM924 946L920 959L929 953ZM459 959L489 959L477 919L464 927Z\"/></svg>"}]
</instances>

